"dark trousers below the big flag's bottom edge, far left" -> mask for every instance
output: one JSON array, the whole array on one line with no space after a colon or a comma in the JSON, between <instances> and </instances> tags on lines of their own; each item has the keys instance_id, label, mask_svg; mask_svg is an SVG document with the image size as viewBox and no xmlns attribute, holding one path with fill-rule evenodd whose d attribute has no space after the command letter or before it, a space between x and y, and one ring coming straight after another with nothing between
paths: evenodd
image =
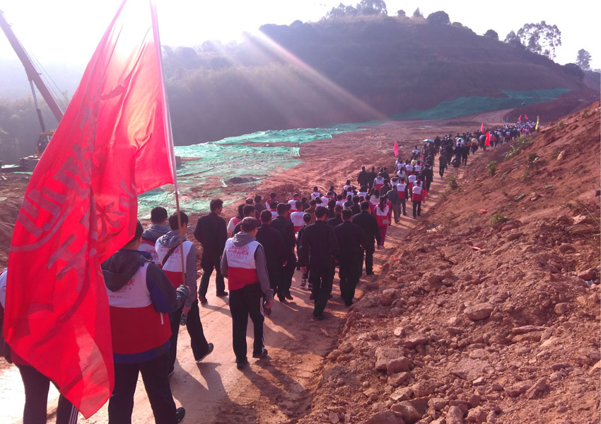
<instances>
[{"instance_id":1,"label":"dark trousers below the big flag's bottom edge, far left","mask_svg":"<svg viewBox=\"0 0 601 424\"><path fill-rule=\"evenodd\" d=\"M50 379L29 365L17 365L25 387L23 424L46 424ZM77 409L64 396L59 397L57 424L77 423Z\"/></svg>"}]
</instances>

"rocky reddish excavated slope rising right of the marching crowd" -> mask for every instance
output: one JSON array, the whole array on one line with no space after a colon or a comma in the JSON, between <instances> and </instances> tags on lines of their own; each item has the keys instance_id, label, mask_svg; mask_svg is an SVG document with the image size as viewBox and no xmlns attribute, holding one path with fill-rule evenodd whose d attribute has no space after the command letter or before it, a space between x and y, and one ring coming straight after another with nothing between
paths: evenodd
<instances>
[{"instance_id":1,"label":"rocky reddish excavated slope rising right of the marching crowd","mask_svg":"<svg viewBox=\"0 0 601 424\"><path fill-rule=\"evenodd\" d=\"M470 160L352 307L299 423L599 422L600 103Z\"/></svg>"}]
</instances>

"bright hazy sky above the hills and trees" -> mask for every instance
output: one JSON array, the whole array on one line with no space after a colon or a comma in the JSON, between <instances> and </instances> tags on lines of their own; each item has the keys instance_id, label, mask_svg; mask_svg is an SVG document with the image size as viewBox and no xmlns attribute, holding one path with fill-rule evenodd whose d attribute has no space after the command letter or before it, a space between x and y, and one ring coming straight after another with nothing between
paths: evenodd
<instances>
[{"instance_id":1,"label":"bright hazy sky above the hills and trees","mask_svg":"<svg viewBox=\"0 0 601 424\"><path fill-rule=\"evenodd\" d=\"M356 4L358 0L345 4ZM25 49L42 64L87 64L93 50L115 15L121 0L0 0L0 9ZM330 0L156 0L163 45L199 45L204 40L224 42L240 38L244 30L256 30L264 23L290 24L319 20L340 1ZM561 30L562 47L556 61L576 60L578 49L592 56L591 66L601 67L601 42L597 33L599 1L472 1L388 0L389 15L403 9L411 15L419 7L428 16L443 10L483 34L496 30L501 40L510 30L525 23L545 20ZM4 34L0 34L0 61L15 59ZM0 62L1 63L1 62ZM25 78L25 76L24 76ZM0 83L6 83L1 78Z\"/></svg>"}]
</instances>

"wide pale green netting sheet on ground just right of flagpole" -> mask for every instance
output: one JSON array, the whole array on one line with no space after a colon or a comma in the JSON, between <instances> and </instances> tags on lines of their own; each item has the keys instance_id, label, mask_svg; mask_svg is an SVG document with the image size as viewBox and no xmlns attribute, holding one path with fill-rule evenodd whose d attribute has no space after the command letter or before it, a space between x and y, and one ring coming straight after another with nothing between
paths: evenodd
<instances>
[{"instance_id":1,"label":"wide pale green netting sheet on ground just right of flagpole","mask_svg":"<svg viewBox=\"0 0 601 424\"><path fill-rule=\"evenodd\" d=\"M259 131L211 143L177 146L175 154L184 160L182 166L177 168L180 207L187 213L208 211L210 199L222 196L224 187L228 187L230 194L233 192L234 195L244 196L261 179L300 164L299 144L331 139L334 134L361 131L364 126L379 123ZM238 177L238 181L232 182L231 179L235 177ZM171 211L175 207L171 192L173 186L165 186L141 194L138 197L139 216L148 217L151 209L159 205Z\"/></svg>"}]
</instances>

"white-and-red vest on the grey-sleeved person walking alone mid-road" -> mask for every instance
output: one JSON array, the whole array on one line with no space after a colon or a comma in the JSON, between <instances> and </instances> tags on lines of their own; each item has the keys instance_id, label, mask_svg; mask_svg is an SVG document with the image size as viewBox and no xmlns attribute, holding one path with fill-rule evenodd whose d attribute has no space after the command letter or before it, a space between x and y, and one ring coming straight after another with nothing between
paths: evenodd
<instances>
[{"instance_id":1,"label":"white-and-red vest on the grey-sleeved person walking alone mid-road","mask_svg":"<svg viewBox=\"0 0 601 424\"><path fill-rule=\"evenodd\" d=\"M259 282L255 252L259 242L253 240L244 246L235 246L232 239L226 242L225 253L228 257L228 288L238 290L245 285Z\"/></svg>"}]
</instances>

